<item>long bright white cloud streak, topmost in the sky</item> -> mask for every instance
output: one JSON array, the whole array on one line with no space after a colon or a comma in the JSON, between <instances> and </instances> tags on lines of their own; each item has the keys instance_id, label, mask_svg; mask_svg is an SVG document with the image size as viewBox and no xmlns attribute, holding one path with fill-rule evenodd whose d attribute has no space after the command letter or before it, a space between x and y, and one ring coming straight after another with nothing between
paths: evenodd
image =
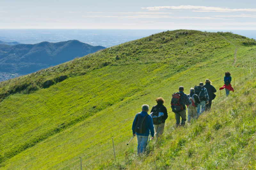
<instances>
[{"instance_id":1,"label":"long bright white cloud streak, topmost in the sky","mask_svg":"<svg viewBox=\"0 0 256 170\"><path fill-rule=\"evenodd\" d=\"M230 9L221 7L207 7L207 6L194 6L194 5L180 5L180 6L154 6L154 7L142 7L141 9L147 9L150 11L156 10L192 10L193 12L256 12L255 8L245 8L245 9Z\"/></svg>"}]
</instances>

